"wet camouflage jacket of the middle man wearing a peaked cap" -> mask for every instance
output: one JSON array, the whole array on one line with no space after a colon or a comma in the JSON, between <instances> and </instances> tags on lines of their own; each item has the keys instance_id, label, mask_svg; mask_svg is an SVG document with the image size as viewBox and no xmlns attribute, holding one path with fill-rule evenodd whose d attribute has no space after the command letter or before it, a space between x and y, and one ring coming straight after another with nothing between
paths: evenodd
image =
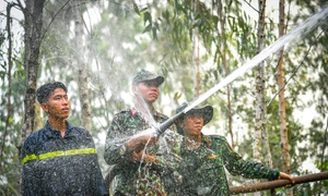
<instances>
[{"instance_id":1,"label":"wet camouflage jacket of the middle man wearing a peaked cap","mask_svg":"<svg viewBox=\"0 0 328 196\"><path fill-rule=\"evenodd\" d=\"M153 111L153 118L157 123L165 122L168 118L160 112ZM150 128L151 125L144 121L136 109L124 110L117 113L109 126L104 158L108 164L120 168L116 175L117 184L115 193L120 195L169 195L174 175L174 169L178 166L178 157L173 154L176 134L167 130L159 138L155 145L148 146L147 152L155 155L155 162L132 162L128 155L120 155L121 147L132 135L140 131Z\"/></svg>"}]
</instances>

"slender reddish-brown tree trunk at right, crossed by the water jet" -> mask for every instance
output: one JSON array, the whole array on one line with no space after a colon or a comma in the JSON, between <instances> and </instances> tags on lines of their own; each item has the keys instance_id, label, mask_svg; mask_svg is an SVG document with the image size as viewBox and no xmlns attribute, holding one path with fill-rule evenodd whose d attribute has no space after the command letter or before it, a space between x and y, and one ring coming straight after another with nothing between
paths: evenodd
<instances>
[{"instance_id":1,"label":"slender reddish-brown tree trunk at right, crossed by the water jet","mask_svg":"<svg viewBox=\"0 0 328 196\"><path fill-rule=\"evenodd\" d=\"M279 37L284 35L284 0L279 2ZM284 99L284 72L283 72L283 48L279 51L278 61L278 86L279 86L279 118L280 118L280 137L282 147L282 162L284 172L291 173L289 138L285 122L285 99ZM289 192L292 196L292 191Z\"/></svg>"}]
</instances>

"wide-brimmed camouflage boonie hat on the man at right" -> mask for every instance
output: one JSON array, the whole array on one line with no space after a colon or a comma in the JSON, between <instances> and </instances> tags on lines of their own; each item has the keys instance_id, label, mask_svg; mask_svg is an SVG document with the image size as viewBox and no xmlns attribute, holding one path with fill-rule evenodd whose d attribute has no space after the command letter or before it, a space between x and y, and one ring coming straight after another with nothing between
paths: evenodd
<instances>
[{"instance_id":1,"label":"wide-brimmed camouflage boonie hat on the man at right","mask_svg":"<svg viewBox=\"0 0 328 196\"><path fill-rule=\"evenodd\" d=\"M175 113L179 113L181 111L185 110L185 108L187 108L188 103L187 102L184 102L181 103L176 110L175 110ZM212 118L213 118L213 107L211 106L204 106L204 107L201 107L201 108L192 108L191 110L189 110L187 113L185 113L184 115L186 114L189 114L189 113L200 113L203 118L203 125L208 124ZM183 117L184 117L183 115ZM177 131L179 134L183 134L183 130L180 127L178 127L178 125L176 124L177 126Z\"/></svg>"}]
</instances>

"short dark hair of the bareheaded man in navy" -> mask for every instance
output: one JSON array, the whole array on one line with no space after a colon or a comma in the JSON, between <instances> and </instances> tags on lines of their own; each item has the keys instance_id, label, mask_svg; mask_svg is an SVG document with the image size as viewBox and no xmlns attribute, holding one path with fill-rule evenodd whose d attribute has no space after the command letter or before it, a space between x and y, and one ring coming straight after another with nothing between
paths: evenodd
<instances>
[{"instance_id":1,"label":"short dark hair of the bareheaded man in navy","mask_svg":"<svg viewBox=\"0 0 328 196\"><path fill-rule=\"evenodd\" d=\"M61 82L54 82L54 83L47 83L42 85L37 90L36 90L36 98L37 101L42 105L44 102L47 102L49 99L50 94L56 89L56 88L62 88L67 93L67 87L65 84Z\"/></svg>"}]
</instances>

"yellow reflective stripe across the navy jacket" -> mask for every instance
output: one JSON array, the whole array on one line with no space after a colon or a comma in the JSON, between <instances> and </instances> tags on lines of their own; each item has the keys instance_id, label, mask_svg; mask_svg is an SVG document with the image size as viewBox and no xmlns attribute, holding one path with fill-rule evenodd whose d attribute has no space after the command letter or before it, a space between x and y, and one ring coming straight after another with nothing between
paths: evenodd
<instances>
[{"instance_id":1,"label":"yellow reflective stripe across the navy jacket","mask_svg":"<svg viewBox=\"0 0 328 196\"><path fill-rule=\"evenodd\" d=\"M49 158L55 158L55 157L62 157L62 156L71 156L71 155L87 155L87 154L96 154L95 148L82 148L82 149L70 149L70 150L58 150L58 151L50 151L47 154L42 154L42 155L27 155L23 159L23 164L27 161L32 160L44 160L44 159L49 159Z\"/></svg>"}]
</instances>

